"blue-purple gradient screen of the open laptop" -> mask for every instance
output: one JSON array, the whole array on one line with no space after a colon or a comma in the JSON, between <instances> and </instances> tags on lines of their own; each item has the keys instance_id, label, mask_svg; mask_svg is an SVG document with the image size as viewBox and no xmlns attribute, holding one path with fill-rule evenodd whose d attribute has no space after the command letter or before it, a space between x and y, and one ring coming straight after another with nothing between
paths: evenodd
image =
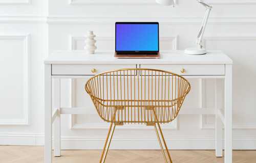
<instances>
[{"instance_id":1,"label":"blue-purple gradient screen of the open laptop","mask_svg":"<svg viewBox=\"0 0 256 163\"><path fill-rule=\"evenodd\" d=\"M158 22L116 22L116 51L159 51Z\"/></svg>"}]
</instances>

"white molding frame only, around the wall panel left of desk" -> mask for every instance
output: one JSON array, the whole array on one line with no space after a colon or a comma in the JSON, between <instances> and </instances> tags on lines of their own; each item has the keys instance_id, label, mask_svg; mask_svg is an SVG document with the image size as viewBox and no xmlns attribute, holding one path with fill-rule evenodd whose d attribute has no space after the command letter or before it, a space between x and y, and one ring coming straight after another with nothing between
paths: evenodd
<instances>
[{"instance_id":1,"label":"white molding frame only, around the wall panel left of desk","mask_svg":"<svg viewBox=\"0 0 256 163\"><path fill-rule=\"evenodd\" d=\"M31 119L31 92L30 92L30 34L0 34L1 40L23 40L24 46L24 119L0 120L0 126L29 126Z\"/></svg>"}]
</instances>

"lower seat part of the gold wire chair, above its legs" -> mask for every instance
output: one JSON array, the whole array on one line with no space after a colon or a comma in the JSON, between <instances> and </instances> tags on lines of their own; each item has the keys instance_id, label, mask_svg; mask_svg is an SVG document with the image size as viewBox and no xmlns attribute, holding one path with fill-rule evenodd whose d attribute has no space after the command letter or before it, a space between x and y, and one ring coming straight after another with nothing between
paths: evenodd
<instances>
[{"instance_id":1,"label":"lower seat part of the gold wire chair, above its legs","mask_svg":"<svg viewBox=\"0 0 256 163\"><path fill-rule=\"evenodd\" d=\"M175 113L172 113L173 105L177 104L177 102L178 100L155 101L152 103L149 101L133 100L102 101L102 107L99 107L100 109L97 111L106 122L145 124L158 120L160 123L168 123L173 121L178 115L178 110L174 110ZM115 119L112 121L115 110L117 110Z\"/></svg>"}]
</instances>

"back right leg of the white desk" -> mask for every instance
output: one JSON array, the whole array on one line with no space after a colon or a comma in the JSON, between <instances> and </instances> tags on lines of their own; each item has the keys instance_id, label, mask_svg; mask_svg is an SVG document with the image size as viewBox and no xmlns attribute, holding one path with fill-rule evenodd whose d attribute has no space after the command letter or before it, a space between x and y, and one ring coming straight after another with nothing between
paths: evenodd
<instances>
[{"instance_id":1,"label":"back right leg of the white desk","mask_svg":"<svg viewBox=\"0 0 256 163\"><path fill-rule=\"evenodd\" d=\"M222 79L215 79L215 151L216 157L222 157L222 121L218 115L218 110L222 108Z\"/></svg>"}]
</instances>

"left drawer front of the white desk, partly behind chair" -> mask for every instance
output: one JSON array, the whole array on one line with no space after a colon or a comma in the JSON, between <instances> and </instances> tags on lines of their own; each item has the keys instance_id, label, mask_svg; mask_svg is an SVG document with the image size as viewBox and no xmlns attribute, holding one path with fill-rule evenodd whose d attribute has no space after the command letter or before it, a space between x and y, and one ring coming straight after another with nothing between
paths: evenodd
<instances>
[{"instance_id":1,"label":"left drawer front of the white desk, partly behind chair","mask_svg":"<svg viewBox=\"0 0 256 163\"><path fill-rule=\"evenodd\" d=\"M136 65L52 65L52 75L96 75L122 68L136 68ZM93 73L92 69L96 69Z\"/></svg>"}]
</instances>

